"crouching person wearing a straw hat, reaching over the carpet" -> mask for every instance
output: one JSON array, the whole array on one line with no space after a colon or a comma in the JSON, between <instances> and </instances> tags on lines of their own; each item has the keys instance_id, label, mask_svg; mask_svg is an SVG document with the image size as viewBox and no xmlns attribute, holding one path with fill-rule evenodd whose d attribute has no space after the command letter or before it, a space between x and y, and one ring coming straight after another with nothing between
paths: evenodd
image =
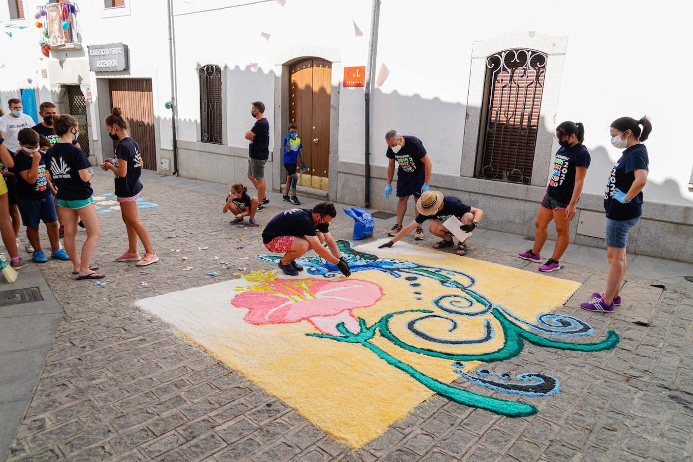
<instances>
[{"instance_id":1,"label":"crouching person wearing a straw hat, reaching over the carpet","mask_svg":"<svg viewBox=\"0 0 693 462\"><path fill-rule=\"evenodd\" d=\"M457 220L462 222L462 226L459 226L459 229L465 232L471 232L479 224L481 217L484 216L484 211L482 211L481 208L464 205L462 201L455 196L443 196L443 193L432 190L425 191L421 194L419 201L416 202L416 211L418 211L419 214L416 215L414 221L404 226L402 230L397 233L397 236L392 238L389 242L380 245L378 249L392 247L395 242L405 238L407 234L414 231L416 227L421 226L426 220L431 220L428 224L428 231L442 238L433 245L433 248L444 249L455 243L453 242L452 233L443 226L445 220L454 216ZM456 253L459 256L466 255L467 245L464 242L459 242L457 244Z\"/></svg>"}]
</instances>

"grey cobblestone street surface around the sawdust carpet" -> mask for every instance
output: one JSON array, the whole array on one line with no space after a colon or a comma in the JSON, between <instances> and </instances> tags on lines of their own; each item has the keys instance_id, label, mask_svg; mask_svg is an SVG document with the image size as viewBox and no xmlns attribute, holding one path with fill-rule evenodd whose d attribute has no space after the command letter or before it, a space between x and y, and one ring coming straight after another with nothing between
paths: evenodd
<instances>
[{"instance_id":1,"label":"grey cobblestone street surface around the sawdust carpet","mask_svg":"<svg viewBox=\"0 0 693 462\"><path fill-rule=\"evenodd\" d=\"M570 247L576 259L583 258L581 252L584 264L563 263L552 277L583 285L556 311L590 323L597 339L615 330L622 337L615 350L581 353L527 345L497 368L512 375L547 371L560 379L556 396L520 398L539 409L536 416L505 418L434 396L376 441L352 451L159 319L132 308L139 299L235 278L236 267L267 268L253 258L265 252L262 226L290 204L271 194L272 202L258 212L260 228L234 227L231 215L221 213L227 186L152 172L142 181L145 200L158 204L139 211L161 258L146 267L149 274L140 275L134 262L114 262L126 247L118 210L99 215L102 237L93 261L107 274L107 285L74 281L71 266L55 260L40 267L64 318L9 461L690 460L693 283L682 276L693 275L693 265L635 257L626 274L632 287L624 287L623 296L640 294L643 303L656 303L649 326L643 326L632 322L625 301L614 314L579 308L602 290L606 258L597 249ZM99 172L93 184L95 195L110 193L112 175ZM316 202L303 199L301 206ZM351 239L353 222L337 209L331 231ZM526 247L508 246L525 245L522 237L491 233L471 238L468 258L536 272L536 265L516 258ZM378 227L371 240L384 236L385 228ZM84 237L80 232L78 240ZM420 245L432 242L427 233ZM213 256L232 268L219 269ZM669 264L684 272L663 269ZM188 266L193 269L182 271ZM207 276L211 271L220 274ZM649 300L647 294L658 293L652 284L665 290ZM195 310L193 303L190 309ZM470 386L462 378L455 384Z\"/></svg>"}]
</instances>

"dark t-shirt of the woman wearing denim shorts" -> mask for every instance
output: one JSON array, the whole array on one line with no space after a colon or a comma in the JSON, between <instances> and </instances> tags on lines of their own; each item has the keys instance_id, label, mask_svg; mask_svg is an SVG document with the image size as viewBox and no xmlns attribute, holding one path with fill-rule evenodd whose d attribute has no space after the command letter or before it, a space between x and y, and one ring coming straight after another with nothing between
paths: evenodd
<instances>
[{"instance_id":1,"label":"dark t-shirt of the woman wearing denim shorts","mask_svg":"<svg viewBox=\"0 0 693 462\"><path fill-rule=\"evenodd\" d=\"M642 143L632 145L624 150L623 155L608 174L606 191L604 193L604 210L607 218L623 221L642 215L642 191L633 197L628 204L621 204L611 197L611 191L615 190L615 188L628 193L631 185L633 185L633 181L635 181L635 170L649 170L647 148Z\"/></svg>"}]
</instances>

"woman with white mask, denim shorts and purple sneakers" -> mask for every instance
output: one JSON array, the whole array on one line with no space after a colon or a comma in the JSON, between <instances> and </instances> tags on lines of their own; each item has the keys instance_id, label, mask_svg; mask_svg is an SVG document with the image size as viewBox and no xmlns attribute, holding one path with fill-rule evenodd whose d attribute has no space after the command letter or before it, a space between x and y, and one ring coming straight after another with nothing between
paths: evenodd
<instances>
[{"instance_id":1,"label":"woman with white mask, denim shorts and purple sneakers","mask_svg":"<svg viewBox=\"0 0 693 462\"><path fill-rule=\"evenodd\" d=\"M618 288L626 275L626 245L631 229L642 214L642 188L647 184L649 172L647 148L642 141L651 131L652 124L647 117L639 121L621 117L611 123L611 144L625 150L611 168L604 192L608 274L604 292L595 292L592 301L580 303L585 310L610 313L614 306L621 304Z\"/></svg>"}]
</instances>

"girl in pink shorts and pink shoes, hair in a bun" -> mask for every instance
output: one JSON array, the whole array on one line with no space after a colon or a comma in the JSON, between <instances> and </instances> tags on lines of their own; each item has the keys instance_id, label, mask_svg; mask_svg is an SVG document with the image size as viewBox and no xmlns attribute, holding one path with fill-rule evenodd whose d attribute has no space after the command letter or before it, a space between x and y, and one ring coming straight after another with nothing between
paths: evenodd
<instances>
[{"instance_id":1,"label":"girl in pink shorts and pink shoes, hair in a bun","mask_svg":"<svg viewBox=\"0 0 693 462\"><path fill-rule=\"evenodd\" d=\"M118 141L115 158L104 159L103 170L112 170L116 174L116 198L121 204L121 215L128 231L128 250L116 258L116 261L137 261L137 266L151 265L159 261L149 233L137 213L137 197L143 186L139 181L142 173L142 156L139 145L128 134L128 123L123 118L121 108L114 107L104 121L108 134ZM137 251L137 236L144 246L144 256Z\"/></svg>"}]
</instances>

